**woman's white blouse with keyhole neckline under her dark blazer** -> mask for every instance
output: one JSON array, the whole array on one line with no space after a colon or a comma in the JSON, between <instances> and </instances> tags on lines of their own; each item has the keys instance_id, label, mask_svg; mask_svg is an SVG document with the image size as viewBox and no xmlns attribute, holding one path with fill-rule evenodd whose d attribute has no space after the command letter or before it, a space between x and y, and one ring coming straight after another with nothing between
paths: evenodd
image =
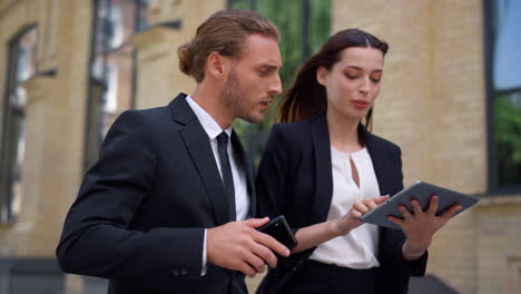
<instances>
[{"instance_id":1,"label":"woman's white blouse with keyhole neckline under her dark blazer","mask_svg":"<svg viewBox=\"0 0 521 294\"><path fill-rule=\"evenodd\" d=\"M352 154L344 154L332 146L331 155L333 161L333 197L327 220L347 214L355 200L381 196L373 161L366 148ZM353 159L358 171L360 188L353 180L350 158ZM309 258L343 267L371 268L380 266L376 259L377 251L377 226L363 224L345 236L318 245Z\"/></svg>"}]
</instances>

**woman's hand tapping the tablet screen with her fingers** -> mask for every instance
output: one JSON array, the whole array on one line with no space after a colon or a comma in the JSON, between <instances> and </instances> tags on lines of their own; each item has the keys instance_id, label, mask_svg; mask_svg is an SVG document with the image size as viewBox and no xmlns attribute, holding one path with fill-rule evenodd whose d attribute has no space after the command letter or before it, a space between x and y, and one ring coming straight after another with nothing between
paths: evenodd
<instances>
[{"instance_id":1,"label":"woman's hand tapping the tablet screen with her fingers","mask_svg":"<svg viewBox=\"0 0 521 294\"><path fill-rule=\"evenodd\" d=\"M334 220L338 236L346 235L352 229L361 226L363 223L360 218L387 199L389 195L356 200L347 214Z\"/></svg>"}]
</instances>

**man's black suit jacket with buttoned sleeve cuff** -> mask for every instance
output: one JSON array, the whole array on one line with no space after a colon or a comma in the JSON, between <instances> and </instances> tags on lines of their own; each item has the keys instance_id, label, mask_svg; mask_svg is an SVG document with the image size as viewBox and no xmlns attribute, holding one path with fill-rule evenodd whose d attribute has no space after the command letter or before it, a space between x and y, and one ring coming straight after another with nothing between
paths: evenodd
<instances>
[{"instance_id":1,"label":"man's black suit jacket with buttoned sleeve cuff","mask_svg":"<svg viewBox=\"0 0 521 294\"><path fill-rule=\"evenodd\" d=\"M253 213L253 166L235 133L232 144ZM208 136L181 94L114 122L67 215L57 256L65 272L109 278L114 294L237 293L232 284L246 292L237 272L208 263L200 276L204 229L229 220Z\"/></svg>"}]
</instances>

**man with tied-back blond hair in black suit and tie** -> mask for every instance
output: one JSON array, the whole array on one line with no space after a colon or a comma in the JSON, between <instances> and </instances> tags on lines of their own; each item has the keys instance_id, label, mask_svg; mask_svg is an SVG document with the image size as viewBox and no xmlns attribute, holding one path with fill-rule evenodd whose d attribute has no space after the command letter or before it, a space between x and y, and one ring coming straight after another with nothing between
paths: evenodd
<instances>
[{"instance_id":1,"label":"man with tied-back blond hair in black suit and tie","mask_svg":"<svg viewBox=\"0 0 521 294\"><path fill-rule=\"evenodd\" d=\"M266 18L224 10L179 47L194 94L114 122L65 220L65 272L109 278L109 293L246 293L244 275L289 254L255 229L267 218L248 218L253 166L232 129L281 94L278 38Z\"/></svg>"}]
</instances>

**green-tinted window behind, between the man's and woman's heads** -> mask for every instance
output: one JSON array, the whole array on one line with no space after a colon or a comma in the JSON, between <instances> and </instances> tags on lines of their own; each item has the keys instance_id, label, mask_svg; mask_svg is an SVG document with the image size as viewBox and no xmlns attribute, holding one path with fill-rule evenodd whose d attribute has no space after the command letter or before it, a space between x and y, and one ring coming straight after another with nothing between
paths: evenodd
<instances>
[{"instance_id":1,"label":"green-tinted window behind, between the man's and woman's heads","mask_svg":"<svg viewBox=\"0 0 521 294\"><path fill-rule=\"evenodd\" d=\"M291 87L295 75L307 58L317 51L331 35L331 1L311 0L228 0L234 9L254 10L271 19L281 31L281 69L283 88ZM256 125L236 120L234 129L240 135L248 155L257 163L273 125L276 104Z\"/></svg>"}]
</instances>

